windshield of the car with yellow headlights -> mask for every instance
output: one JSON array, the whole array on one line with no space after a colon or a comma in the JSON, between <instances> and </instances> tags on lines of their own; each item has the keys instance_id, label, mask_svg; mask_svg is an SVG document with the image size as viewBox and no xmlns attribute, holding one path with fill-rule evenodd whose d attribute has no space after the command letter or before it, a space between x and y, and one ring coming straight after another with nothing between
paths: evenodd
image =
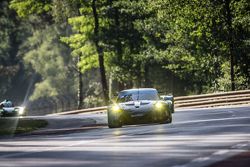
<instances>
[{"instance_id":1,"label":"windshield of the car with yellow headlights","mask_svg":"<svg viewBox=\"0 0 250 167\"><path fill-rule=\"evenodd\" d=\"M159 96L155 90L133 90L120 92L117 98L118 103L136 100L159 100Z\"/></svg>"}]
</instances>

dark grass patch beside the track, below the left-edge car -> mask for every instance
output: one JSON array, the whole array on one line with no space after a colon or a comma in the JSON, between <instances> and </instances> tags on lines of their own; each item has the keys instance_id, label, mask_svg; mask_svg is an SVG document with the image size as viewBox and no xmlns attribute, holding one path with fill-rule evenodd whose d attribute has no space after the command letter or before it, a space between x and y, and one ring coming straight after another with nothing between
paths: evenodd
<instances>
[{"instance_id":1,"label":"dark grass patch beside the track, below the left-edge car","mask_svg":"<svg viewBox=\"0 0 250 167\"><path fill-rule=\"evenodd\" d=\"M0 118L0 136L32 132L47 125L45 120Z\"/></svg>"}]
</instances>

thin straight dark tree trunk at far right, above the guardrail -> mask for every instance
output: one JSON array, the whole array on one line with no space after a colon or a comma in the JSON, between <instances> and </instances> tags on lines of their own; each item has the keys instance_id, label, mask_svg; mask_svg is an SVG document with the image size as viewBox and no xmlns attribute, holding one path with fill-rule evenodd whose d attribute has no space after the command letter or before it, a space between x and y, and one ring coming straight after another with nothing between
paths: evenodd
<instances>
[{"instance_id":1,"label":"thin straight dark tree trunk at far right, above the guardrail","mask_svg":"<svg viewBox=\"0 0 250 167\"><path fill-rule=\"evenodd\" d=\"M226 9L226 22L228 26L228 43L229 43L229 55L230 55L230 76L231 76L231 90L235 90L235 74L234 74L234 33L232 28L232 13L230 9L231 0L225 0Z\"/></svg>"}]
</instances>

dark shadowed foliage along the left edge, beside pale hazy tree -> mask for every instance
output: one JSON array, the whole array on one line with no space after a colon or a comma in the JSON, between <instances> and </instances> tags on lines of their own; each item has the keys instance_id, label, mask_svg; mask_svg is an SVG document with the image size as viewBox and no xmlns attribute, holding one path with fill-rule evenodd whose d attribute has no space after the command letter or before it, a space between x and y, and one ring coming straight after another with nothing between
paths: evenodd
<instances>
[{"instance_id":1,"label":"dark shadowed foliage along the left edge, beside pale hazy tree","mask_svg":"<svg viewBox=\"0 0 250 167\"><path fill-rule=\"evenodd\" d=\"M17 78L26 79L21 58L17 55L19 45L29 34L29 26L20 21L9 1L0 2L0 96L10 97L12 89L20 86ZM18 91L18 93L23 91Z\"/></svg>"}]
</instances>

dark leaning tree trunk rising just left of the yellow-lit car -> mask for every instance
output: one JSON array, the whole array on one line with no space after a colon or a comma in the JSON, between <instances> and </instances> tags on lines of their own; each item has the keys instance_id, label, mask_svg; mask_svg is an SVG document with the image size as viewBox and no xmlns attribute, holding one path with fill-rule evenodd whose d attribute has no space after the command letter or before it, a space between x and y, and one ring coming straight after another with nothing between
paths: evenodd
<instances>
[{"instance_id":1,"label":"dark leaning tree trunk rising just left of the yellow-lit car","mask_svg":"<svg viewBox=\"0 0 250 167\"><path fill-rule=\"evenodd\" d=\"M96 46L97 54L98 54L98 61L99 61L99 69L100 69L100 75L101 75L101 84L102 84L102 90L103 90L103 96L104 96L104 102L108 104L108 85L106 80L106 71L104 66L104 55L103 55L103 49L99 45L99 20L98 20L98 14L96 10L96 0L92 0L92 11L94 16L94 43Z\"/></svg>"}]
</instances>

